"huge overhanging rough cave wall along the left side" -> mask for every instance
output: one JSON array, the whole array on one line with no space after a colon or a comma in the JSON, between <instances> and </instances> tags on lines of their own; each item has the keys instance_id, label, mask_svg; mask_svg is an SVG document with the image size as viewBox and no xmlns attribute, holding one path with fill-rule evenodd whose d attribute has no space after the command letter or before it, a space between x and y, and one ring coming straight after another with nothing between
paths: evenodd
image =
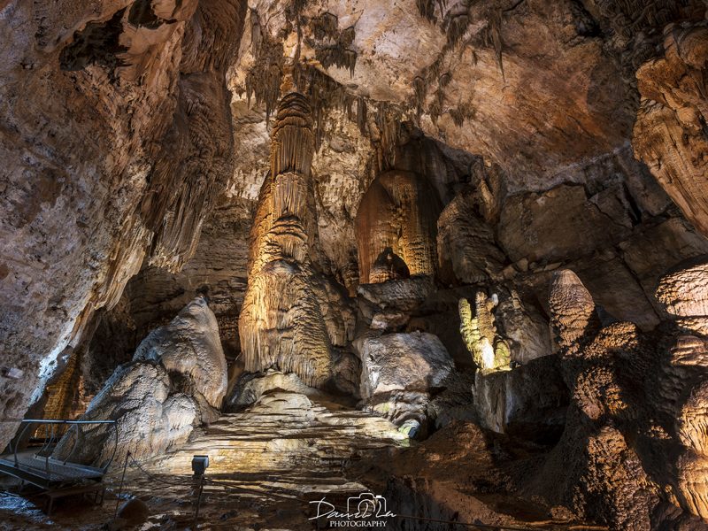
<instances>
[{"instance_id":1,"label":"huge overhanging rough cave wall along the left side","mask_svg":"<svg viewBox=\"0 0 708 531\"><path fill-rule=\"evenodd\" d=\"M150 6L2 6L0 445L146 254L189 258L230 174L245 3Z\"/></svg>"}]
</instances>

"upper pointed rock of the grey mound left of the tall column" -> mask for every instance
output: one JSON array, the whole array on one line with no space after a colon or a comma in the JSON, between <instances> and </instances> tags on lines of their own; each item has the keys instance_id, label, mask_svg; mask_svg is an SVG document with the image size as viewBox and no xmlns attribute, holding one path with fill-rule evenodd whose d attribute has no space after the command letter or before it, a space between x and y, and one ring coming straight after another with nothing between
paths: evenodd
<instances>
[{"instance_id":1,"label":"upper pointed rock of the grey mound left of the tall column","mask_svg":"<svg viewBox=\"0 0 708 531\"><path fill-rule=\"evenodd\" d=\"M170 373L194 381L212 407L219 409L227 392L227 362L219 339L219 325L204 297L187 304L172 322L142 340L135 361L160 363Z\"/></svg>"}]
</instances>

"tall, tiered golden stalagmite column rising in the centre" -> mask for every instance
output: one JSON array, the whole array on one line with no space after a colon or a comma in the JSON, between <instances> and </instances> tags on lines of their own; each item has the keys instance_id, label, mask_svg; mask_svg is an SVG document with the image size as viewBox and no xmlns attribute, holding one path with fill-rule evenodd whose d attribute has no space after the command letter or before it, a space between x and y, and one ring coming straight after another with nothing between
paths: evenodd
<instances>
[{"instance_id":1,"label":"tall, tiered golden stalagmite column rising in the centre","mask_svg":"<svg viewBox=\"0 0 708 531\"><path fill-rule=\"evenodd\" d=\"M249 285L239 335L249 372L274 367L312 387L331 376L331 345L353 330L345 295L316 271L314 136L304 96L283 96L273 127L271 174L251 231ZM332 304L335 303L335 304Z\"/></svg>"}]
</instances>

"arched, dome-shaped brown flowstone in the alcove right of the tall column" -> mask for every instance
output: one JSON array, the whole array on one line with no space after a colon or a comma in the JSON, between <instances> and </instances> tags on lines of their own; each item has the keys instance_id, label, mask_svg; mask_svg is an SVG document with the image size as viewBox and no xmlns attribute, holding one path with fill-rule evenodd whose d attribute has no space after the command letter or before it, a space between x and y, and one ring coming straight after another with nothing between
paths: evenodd
<instances>
[{"instance_id":1,"label":"arched, dome-shaped brown flowstone in the alcove right of the tall column","mask_svg":"<svg viewBox=\"0 0 708 531\"><path fill-rule=\"evenodd\" d=\"M437 194L425 177L398 170L377 177L357 212L359 281L434 274L439 214Z\"/></svg>"}]
</instances>

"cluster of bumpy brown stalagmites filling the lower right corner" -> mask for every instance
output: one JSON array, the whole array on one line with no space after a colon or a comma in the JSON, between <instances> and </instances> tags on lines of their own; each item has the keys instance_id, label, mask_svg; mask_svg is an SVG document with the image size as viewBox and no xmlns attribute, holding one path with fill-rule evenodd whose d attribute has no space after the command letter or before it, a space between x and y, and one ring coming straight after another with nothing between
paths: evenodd
<instances>
[{"instance_id":1,"label":"cluster of bumpy brown stalagmites filling the lower right corner","mask_svg":"<svg viewBox=\"0 0 708 531\"><path fill-rule=\"evenodd\" d=\"M563 466L564 481L550 496L605 519L612 529L658 528L652 512L661 498L708 516L704 430L698 427L704 423L706 328L703 308L691 295L700 293L705 268L683 269L661 281L658 298L680 319L652 335L627 322L603 327L578 277L570 271L555 276L551 324L571 408L544 473ZM681 331L686 324L690 336ZM536 488L548 479L542 477Z\"/></svg>"}]
</instances>

